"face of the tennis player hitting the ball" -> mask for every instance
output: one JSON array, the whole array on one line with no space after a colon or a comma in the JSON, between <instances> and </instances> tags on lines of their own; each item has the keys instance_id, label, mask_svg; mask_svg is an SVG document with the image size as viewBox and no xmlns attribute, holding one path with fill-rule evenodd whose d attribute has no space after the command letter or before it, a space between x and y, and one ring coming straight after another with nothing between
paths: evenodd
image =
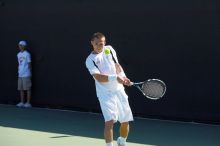
<instances>
[{"instance_id":1,"label":"face of the tennis player hitting the ball","mask_svg":"<svg viewBox=\"0 0 220 146\"><path fill-rule=\"evenodd\" d=\"M102 38L94 38L94 40L91 41L91 44L93 46L93 51L95 53L100 53L103 50L103 47L105 46L105 37Z\"/></svg>"}]
</instances>

